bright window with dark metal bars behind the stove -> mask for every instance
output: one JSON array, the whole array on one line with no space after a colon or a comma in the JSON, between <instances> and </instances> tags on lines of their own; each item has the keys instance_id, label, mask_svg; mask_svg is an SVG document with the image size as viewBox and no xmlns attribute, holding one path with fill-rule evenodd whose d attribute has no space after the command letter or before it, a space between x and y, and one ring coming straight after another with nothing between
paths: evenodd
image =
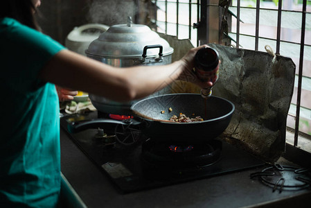
<instances>
[{"instance_id":1,"label":"bright window with dark metal bars behind the stove","mask_svg":"<svg viewBox=\"0 0 311 208\"><path fill-rule=\"evenodd\" d=\"M287 117L287 142L311 153L310 0L151 2L155 11L154 18L150 20L159 33L175 35L179 39L189 38L194 46L198 46L200 42L217 41L243 49L265 51L264 46L269 45L275 53L292 58L296 64L296 80ZM226 8L226 4L229 8ZM226 14L227 21L222 21L222 14ZM213 21L208 15L213 17ZM202 22L206 24L206 28L203 33L198 33L195 26ZM229 26L228 32L222 27L226 24ZM226 34L220 35L220 31ZM220 40L221 38L226 41Z\"/></svg>"}]
</instances>

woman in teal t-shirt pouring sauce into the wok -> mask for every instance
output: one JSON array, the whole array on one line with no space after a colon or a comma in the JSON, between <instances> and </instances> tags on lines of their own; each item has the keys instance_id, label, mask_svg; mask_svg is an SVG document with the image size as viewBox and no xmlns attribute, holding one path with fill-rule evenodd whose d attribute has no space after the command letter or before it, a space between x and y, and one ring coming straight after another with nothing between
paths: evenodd
<instances>
[{"instance_id":1,"label":"woman in teal t-shirt pouring sauce into the wok","mask_svg":"<svg viewBox=\"0 0 311 208\"><path fill-rule=\"evenodd\" d=\"M55 85L130 101L192 76L191 49L166 66L116 67L64 49L39 32L39 0L1 1L0 207L55 207L60 193L60 124ZM203 46L202 46L203 47ZM186 75L186 76L185 76ZM65 95L72 96L75 94Z\"/></svg>"}]
</instances>

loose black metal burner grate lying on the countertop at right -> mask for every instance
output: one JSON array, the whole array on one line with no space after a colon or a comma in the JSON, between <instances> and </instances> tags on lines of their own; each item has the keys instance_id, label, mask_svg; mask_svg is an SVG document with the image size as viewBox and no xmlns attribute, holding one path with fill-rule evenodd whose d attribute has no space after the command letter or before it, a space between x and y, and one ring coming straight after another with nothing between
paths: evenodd
<instances>
[{"instance_id":1,"label":"loose black metal burner grate lying on the countertop at right","mask_svg":"<svg viewBox=\"0 0 311 208\"><path fill-rule=\"evenodd\" d=\"M296 191L311 187L311 173L306 168L274 164L261 172L251 173L251 178L254 177L272 187L273 192L277 189L281 193L283 190Z\"/></svg>"}]
</instances>

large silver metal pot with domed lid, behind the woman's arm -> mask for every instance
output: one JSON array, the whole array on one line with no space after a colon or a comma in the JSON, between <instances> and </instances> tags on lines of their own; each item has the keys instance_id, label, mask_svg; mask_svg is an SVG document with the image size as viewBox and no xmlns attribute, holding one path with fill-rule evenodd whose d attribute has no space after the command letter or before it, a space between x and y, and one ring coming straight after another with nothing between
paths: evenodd
<instances>
[{"instance_id":1,"label":"large silver metal pot with domed lid, behind the woman's arm","mask_svg":"<svg viewBox=\"0 0 311 208\"><path fill-rule=\"evenodd\" d=\"M114 67L139 65L165 65L172 62L174 49L148 26L127 24L111 26L98 39L89 44L87 57ZM152 96L168 93L168 88ZM130 107L137 101L118 103L102 96L89 94L92 104L100 112L111 114L130 114Z\"/></svg>"}]
</instances>

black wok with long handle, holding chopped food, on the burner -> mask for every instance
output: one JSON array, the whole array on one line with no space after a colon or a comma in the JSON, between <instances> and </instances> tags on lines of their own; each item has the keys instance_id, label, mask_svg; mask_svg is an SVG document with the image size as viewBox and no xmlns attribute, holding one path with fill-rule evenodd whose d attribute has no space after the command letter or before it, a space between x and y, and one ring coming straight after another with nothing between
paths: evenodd
<instances>
[{"instance_id":1,"label":"black wok with long handle, holding chopped food, on the burner","mask_svg":"<svg viewBox=\"0 0 311 208\"><path fill-rule=\"evenodd\" d=\"M169 112L169 108L172 112ZM200 94L166 94L134 103L131 110L134 113L132 122L95 119L78 125L69 125L69 131L98 128L98 125L105 125L105 123L139 125L144 135L157 140L189 141L191 139L197 142L214 139L222 134L231 121L235 107L230 101L217 96L205 100ZM161 113L162 111L164 113ZM189 117L193 114L201 116L204 121L191 123L165 121L174 114L179 116L180 113Z\"/></svg>"}]
</instances>

